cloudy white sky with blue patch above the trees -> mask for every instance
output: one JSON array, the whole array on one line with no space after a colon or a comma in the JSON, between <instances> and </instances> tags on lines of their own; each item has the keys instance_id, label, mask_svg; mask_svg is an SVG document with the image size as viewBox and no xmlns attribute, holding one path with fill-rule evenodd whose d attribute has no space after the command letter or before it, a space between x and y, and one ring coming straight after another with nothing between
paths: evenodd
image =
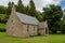
<instances>
[{"instance_id":1,"label":"cloudy white sky with blue patch above the trees","mask_svg":"<svg viewBox=\"0 0 65 43\"><path fill-rule=\"evenodd\" d=\"M13 1L15 4L18 0L0 0L0 5L8 6L8 2ZM29 0L22 0L24 5L29 4ZM50 4L61 5L62 10L65 9L65 0L34 0L36 9L40 12L42 12L42 8L47 8Z\"/></svg>"}]
</instances>

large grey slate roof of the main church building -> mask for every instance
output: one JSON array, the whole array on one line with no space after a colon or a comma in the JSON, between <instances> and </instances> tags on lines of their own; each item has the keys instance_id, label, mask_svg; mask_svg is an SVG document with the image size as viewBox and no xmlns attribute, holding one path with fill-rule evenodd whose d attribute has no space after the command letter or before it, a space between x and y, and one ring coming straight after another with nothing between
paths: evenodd
<instances>
[{"instance_id":1,"label":"large grey slate roof of the main church building","mask_svg":"<svg viewBox=\"0 0 65 43\"><path fill-rule=\"evenodd\" d=\"M16 12L17 17L21 19L22 23L25 24L31 24L31 25L38 25L39 22L36 17L31 17L22 13Z\"/></svg>"}]
</instances>

